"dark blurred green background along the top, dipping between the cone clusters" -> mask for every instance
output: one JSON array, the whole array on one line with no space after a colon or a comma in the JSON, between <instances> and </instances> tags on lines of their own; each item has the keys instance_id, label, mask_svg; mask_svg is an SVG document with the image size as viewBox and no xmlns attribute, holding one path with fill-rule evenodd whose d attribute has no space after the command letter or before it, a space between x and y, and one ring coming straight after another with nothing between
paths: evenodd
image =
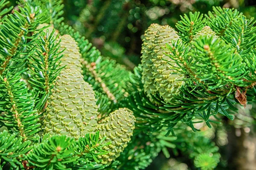
<instances>
[{"instance_id":1,"label":"dark blurred green background along the top, dipping between the cone clusters","mask_svg":"<svg viewBox=\"0 0 256 170\"><path fill-rule=\"evenodd\" d=\"M16 0L10 0L15 5ZM106 57L132 70L140 63L144 31L151 23L175 28L180 15L207 13L212 6L238 8L256 16L255 0L63 0L64 21Z\"/></svg>"}]
</instances>

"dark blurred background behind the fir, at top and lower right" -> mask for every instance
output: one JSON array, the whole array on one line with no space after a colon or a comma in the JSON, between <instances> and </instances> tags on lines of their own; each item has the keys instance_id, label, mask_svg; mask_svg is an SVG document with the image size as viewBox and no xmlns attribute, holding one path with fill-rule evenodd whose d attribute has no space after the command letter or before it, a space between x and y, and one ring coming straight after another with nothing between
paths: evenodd
<instances>
[{"instance_id":1,"label":"dark blurred background behind the fir, at top and lower right","mask_svg":"<svg viewBox=\"0 0 256 170\"><path fill-rule=\"evenodd\" d=\"M15 0L11 4L15 6ZM237 8L247 18L256 17L256 0L64 0L64 22L93 43L102 55L116 59L128 70L140 63L142 35L151 23L175 28L180 15L205 14L212 6ZM236 119L224 119L212 129L200 128L220 148L217 170L256 170L256 105L240 108ZM200 125L199 125L200 126ZM205 131L204 131L205 130ZM192 144L192 142L191 142ZM180 147L189 147L181 146ZM163 153L147 170L192 170L189 156Z\"/></svg>"}]
</instances>

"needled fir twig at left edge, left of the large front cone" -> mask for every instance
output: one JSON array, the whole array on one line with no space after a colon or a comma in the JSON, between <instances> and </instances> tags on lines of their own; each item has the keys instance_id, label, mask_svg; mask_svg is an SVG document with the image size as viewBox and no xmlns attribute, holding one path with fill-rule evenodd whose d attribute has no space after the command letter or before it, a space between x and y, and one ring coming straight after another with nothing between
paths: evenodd
<instances>
[{"instance_id":1,"label":"needled fir twig at left edge, left of the large front cone","mask_svg":"<svg viewBox=\"0 0 256 170\"><path fill-rule=\"evenodd\" d=\"M5 112L0 119L7 126L12 126L14 131L20 133L23 141L26 141L29 136L41 130L38 113L34 110L35 100L28 93L26 83L20 81L19 73L15 75L8 73L6 77L0 76L0 79L2 82L0 91L5 101L0 103L0 111Z\"/></svg>"}]
</instances>

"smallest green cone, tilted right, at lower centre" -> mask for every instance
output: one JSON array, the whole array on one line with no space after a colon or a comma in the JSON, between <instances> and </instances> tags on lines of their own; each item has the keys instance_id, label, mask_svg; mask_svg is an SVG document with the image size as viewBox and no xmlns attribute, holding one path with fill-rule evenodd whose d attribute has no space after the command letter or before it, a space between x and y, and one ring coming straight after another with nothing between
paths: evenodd
<instances>
[{"instance_id":1,"label":"smallest green cone, tilted right, at lower centre","mask_svg":"<svg viewBox=\"0 0 256 170\"><path fill-rule=\"evenodd\" d=\"M96 127L99 130L99 137L102 139L106 136L105 143L111 142L108 146L103 147L109 153L99 155L102 164L110 164L120 156L128 142L131 140L135 128L135 117L133 112L127 108L119 108L110 113L108 117L102 120L102 123Z\"/></svg>"}]
</instances>

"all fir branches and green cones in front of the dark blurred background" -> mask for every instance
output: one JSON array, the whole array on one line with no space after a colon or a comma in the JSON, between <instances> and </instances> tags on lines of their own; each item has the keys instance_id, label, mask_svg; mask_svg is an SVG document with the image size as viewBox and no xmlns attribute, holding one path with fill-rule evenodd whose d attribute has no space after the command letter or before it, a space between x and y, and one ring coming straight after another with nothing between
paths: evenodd
<instances>
[{"instance_id":1,"label":"all fir branches and green cones in front of the dark blurred background","mask_svg":"<svg viewBox=\"0 0 256 170\"><path fill-rule=\"evenodd\" d=\"M219 148L198 131L255 100L255 21L236 9L185 14L178 32L151 24L131 73L62 22L61 1L7 4L0 0L0 169L140 170L162 151L212 170Z\"/></svg>"}]
</instances>

